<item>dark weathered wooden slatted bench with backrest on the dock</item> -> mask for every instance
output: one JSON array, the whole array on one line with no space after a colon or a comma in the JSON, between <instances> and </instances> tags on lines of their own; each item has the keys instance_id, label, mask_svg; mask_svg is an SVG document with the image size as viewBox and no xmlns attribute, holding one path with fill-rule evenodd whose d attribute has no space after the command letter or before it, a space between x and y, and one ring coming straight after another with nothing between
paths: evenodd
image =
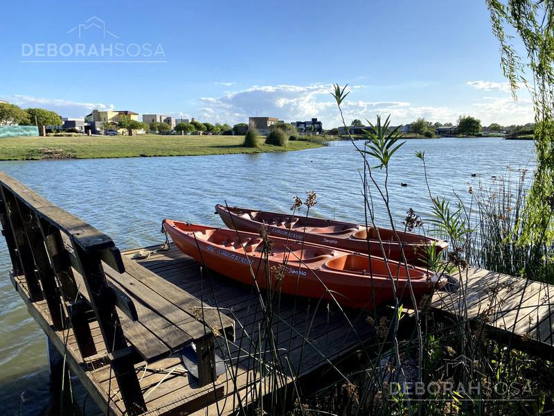
<instances>
[{"instance_id":1,"label":"dark weathered wooden slatted bench with backrest on the dock","mask_svg":"<svg viewBox=\"0 0 554 416\"><path fill-rule=\"evenodd\" d=\"M198 352L199 385L215 380L214 338L210 324L195 318L184 324L181 318L179 322L170 318L172 311L173 316L179 313L181 317L189 312L184 311L182 305L179 309L177 303L193 309L202 306L202 302L184 291L179 293L179 288L177 291L169 288L179 302L166 302L163 312L155 307L156 302L160 302L155 293L135 305L136 291L126 292L125 289L129 276L138 281L159 279L159 286L168 285L168 282L129 259L125 259L129 268L126 272L120 251L109 236L53 205L6 173L0 173L0 221L13 275L24 277L28 301L46 301L51 327L55 331L71 328L82 358L97 354L89 325L91 315L98 321L127 413L140 414L147 410L134 368L139 361L157 360L194 342ZM154 287L157 286L154 281ZM134 287L137 286L129 286ZM157 329L150 328L146 318L145 322L134 324L139 320L139 306L145 311L144 315L154 316ZM175 310L171 309L173 307ZM215 311L209 312L215 320L212 316ZM170 342L166 333L156 334L161 331L160 320L166 317L164 322L167 334L172 337ZM233 333L232 320L224 315L217 319L217 327L224 333L229 333L228 330ZM130 331L127 337L125 331ZM154 338L155 343L149 345L144 341L156 335L159 339ZM143 341L133 342L136 340Z\"/></svg>"}]
</instances>

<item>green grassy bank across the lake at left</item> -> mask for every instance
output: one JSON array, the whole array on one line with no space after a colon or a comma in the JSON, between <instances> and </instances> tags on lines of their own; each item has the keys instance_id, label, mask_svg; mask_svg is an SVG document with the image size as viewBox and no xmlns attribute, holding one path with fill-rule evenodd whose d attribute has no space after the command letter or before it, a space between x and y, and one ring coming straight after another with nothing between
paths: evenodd
<instances>
[{"instance_id":1,"label":"green grassy bank across the lake at left","mask_svg":"<svg viewBox=\"0 0 554 416\"><path fill-rule=\"evenodd\" d=\"M10 137L0 139L0 160L229 155L321 147L307 141L290 141L287 147L262 144L260 148L245 148L243 141L244 136Z\"/></svg>"}]
</instances>

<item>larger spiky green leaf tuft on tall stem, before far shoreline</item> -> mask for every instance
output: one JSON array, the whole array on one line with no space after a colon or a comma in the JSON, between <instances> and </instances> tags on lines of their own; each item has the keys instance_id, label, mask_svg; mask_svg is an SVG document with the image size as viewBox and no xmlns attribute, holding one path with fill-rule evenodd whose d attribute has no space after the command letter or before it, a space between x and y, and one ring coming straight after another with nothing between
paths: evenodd
<instances>
[{"instance_id":1,"label":"larger spiky green leaf tuft on tall stem, before far shoreline","mask_svg":"<svg viewBox=\"0 0 554 416\"><path fill-rule=\"evenodd\" d=\"M397 144L397 141L402 138L402 135L398 133L400 126L397 126L391 131L388 131L388 126L391 124L391 116L388 116L384 123L381 123L381 116L377 116L377 123L373 125L369 120L366 120L370 125L370 129L366 130L365 135L366 150L362 150L370 156L375 157L379 161L378 168L388 168L388 162L405 141Z\"/></svg>"}]
</instances>

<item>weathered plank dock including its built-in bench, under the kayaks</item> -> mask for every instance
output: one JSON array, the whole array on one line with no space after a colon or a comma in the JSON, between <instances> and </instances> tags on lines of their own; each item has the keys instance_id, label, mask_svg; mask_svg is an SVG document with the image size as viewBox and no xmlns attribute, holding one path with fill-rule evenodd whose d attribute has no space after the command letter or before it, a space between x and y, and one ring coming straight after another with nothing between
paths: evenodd
<instances>
[{"instance_id":1,"label":"weathered plank dock including its built-in bench, under the kayaks","mask_svg":"<svg viewBox=\"0 0 554 416\"><path fill-rule=\"evenodd\" d=\"M260 294L172 245L120 252L3 173L0 199L12 283L102 413L229 415L267 398L284 410L331 380L347 383L379 344L366 312ZM468 268L431 310L552 359L553 289Z\"/></svg>"}]
</instances>

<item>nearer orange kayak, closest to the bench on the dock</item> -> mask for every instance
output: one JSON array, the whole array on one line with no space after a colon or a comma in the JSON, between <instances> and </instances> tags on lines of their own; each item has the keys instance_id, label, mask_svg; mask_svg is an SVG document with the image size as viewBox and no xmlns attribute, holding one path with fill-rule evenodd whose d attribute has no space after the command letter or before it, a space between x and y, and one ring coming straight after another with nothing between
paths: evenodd
<instances>
[{"instance_id":1,"label":"nearer orange kayak, closest to the bench on the dock","mask_svg":"<svg viewBox=\"0 0 554 416\"><path fill-rule=\"evenodd\" d=\"M419 302L444 283L422 268L321 245L271 238L274 245L265 261L259 234L175 220L163 220L163 228L179 250L221 275L287 295L334 297L350 308L373 309L393 300L395 290L399 300L410 302L410 285Z\"/></svg>"}]
</instances>

